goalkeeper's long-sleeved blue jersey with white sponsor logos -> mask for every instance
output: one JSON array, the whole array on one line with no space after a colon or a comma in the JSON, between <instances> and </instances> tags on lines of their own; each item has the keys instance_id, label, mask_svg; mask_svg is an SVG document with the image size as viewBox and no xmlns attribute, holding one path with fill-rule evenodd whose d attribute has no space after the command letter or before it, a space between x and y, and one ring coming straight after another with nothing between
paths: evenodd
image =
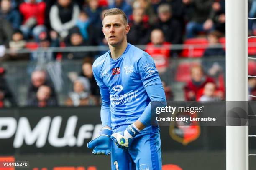
<instances>
[{"instance_id":1,"label":"goalkeeper's long-sleeved blue jersey with white sponsor logos","mask_svg":"<svg viewBox=\"0 0 256 170\"><path fill-rule=\"evenodd\" d=\"M154 60L129 43L117 60L110 55L110 51L106 52L93 64L93 74L102 97L102 127L110 126L114 130L136 120L150 125L151 100L156 96L157 100L166 100ZM146 89L154 86L156 90L151 89L149 96Z\"/></svg>"}]
</instances>

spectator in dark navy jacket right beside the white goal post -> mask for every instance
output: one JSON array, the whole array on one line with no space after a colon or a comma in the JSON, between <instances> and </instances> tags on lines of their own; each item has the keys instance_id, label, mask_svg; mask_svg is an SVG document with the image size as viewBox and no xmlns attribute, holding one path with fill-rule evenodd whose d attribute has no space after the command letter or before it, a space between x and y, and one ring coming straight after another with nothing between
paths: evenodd
<instances>
[{"instance_id":1,"label":"spectator in dark navy jacket right beside the white goal post","mask_svg":"<svg viewBox=\"0 0 256 170\"><path fill-rule=\"evenodd\" d=\"M222 47L215 47L219 43L220 32L212 31L207 35L207 37L209 47L207 47L203 55L202 65L208 75L217 77L225 69L225 60L221 60L221 58L217 58L217 56L225 57L225 51ZM215 57L215 60L210 60L210 58L213 57Z\"/></svg>"}]
</instances>

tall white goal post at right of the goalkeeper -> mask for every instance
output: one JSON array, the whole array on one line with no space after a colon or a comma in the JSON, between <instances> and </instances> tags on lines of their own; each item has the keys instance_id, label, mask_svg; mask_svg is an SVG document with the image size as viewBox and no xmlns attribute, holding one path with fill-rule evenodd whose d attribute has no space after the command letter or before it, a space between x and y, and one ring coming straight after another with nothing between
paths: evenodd
<instances>
[{"instance_id":1,"label":"tall white goal post at right of the goalkeeper","mask_svg":"<svg viewBox=\"0 0 256 170\"><path fill-rule=\"evenodd\" d=\"M248 0L226 0L226 100L248 100ZM226 126L226 170L248 170L248 126Z\"/></svg>"}]
</instances>

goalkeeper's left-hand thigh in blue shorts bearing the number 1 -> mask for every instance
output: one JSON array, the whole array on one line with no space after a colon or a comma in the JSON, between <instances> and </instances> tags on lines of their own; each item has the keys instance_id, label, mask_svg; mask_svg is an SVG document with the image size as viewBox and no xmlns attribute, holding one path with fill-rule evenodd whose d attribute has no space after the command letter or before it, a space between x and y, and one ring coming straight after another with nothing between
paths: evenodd
<instances>
[{"instance_id":1,"label":"goalkeeper's left-hand thigh in blue shorts bearing the number 1","mask_svg":"<svg viewBox=\"0 0 256 170\"><path fill-rule=\"evenodd\" d=\"M111 142L111 170L135 170L128 151L118 148L114 141Z\"/></svg>"}]
</instances>

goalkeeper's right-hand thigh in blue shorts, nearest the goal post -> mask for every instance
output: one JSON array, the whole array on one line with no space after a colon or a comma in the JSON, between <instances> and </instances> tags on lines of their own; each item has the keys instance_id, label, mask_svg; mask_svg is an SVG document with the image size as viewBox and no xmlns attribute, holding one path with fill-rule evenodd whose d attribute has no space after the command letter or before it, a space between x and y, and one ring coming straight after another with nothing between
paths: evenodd
<instances>
[{"instance_id":1,"label":"goalkeeper's right-hand thigh in blue shorts, nearest the goal post","mask_svg":"<svg viewBox=\"0 0 256 170\"><path fill-rule=\"evenodd\" d=\"M140 135L133 140L129 153L136 170L161 170L161 140L159 133ZM135 170L135 168L134 168Z\"/></svg>"}]
</instances>

